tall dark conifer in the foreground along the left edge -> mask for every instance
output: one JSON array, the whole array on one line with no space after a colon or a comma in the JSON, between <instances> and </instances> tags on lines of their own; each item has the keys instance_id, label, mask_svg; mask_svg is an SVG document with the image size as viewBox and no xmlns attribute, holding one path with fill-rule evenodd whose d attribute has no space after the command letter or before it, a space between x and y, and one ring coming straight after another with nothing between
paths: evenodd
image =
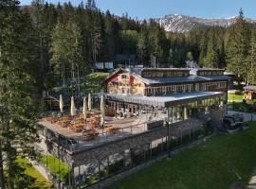
<instances>
[{"instance_id":1,"label":"tall dark conifer in the foreground along the left edge","mask_svg":"<svg viewBox=\"0 0 256 189\"><path fill-rule=\"evenodd\" d=\"M35 66L30 51L32 24L17 1L0 0L0 20L0 187L12 189L21 174L17 156L35 155L32 144L38 141L34 125L39 104L36 73L31 69Z\"/></svg>"}]
</instances>

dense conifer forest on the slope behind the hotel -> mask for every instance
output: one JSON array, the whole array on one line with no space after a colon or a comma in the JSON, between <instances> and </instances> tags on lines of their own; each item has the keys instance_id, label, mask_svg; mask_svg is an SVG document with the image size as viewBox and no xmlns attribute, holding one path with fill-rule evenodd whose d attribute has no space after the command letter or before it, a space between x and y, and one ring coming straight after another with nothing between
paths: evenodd
<instances>
[{"instance_id":1,"label":"dense conifer forest on the slope behind the hotel","mask_svg":"<svg viewBox=\"0 0 256 189\"><path fill-rule=\"evenodd\" d=\"M194 60L201 67L227 68L254 83L256 28L240 10L235 25L197 27L188 33L168 33L153 19L138 21L102 12L95 1L53 5L34 0L20 9L26 16L37 83L42 89L61 78L84 77L96 61L112 61L117 54L136 55L136 64L183 67Z\"/></svg>"}]
</instances>

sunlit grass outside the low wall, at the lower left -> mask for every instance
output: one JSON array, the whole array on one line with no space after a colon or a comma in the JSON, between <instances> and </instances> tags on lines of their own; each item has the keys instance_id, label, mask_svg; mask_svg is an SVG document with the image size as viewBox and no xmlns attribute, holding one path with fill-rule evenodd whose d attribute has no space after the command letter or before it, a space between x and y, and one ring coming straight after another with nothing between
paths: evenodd
<instances>
[{"instance_id":1,"label":"sunlit grass outside the low wall, at the lower left","mask_svg":"<svg viewBox=\"0 0 256 189\"><path fill-rule=\"evenodd\" d=\"M29 163L29 161L26 158L18 158L17 162L24 167L25 174L29 177L32 177L35 179L34 183L32 184L32 188L36 189L49 189L51 187L51 183L46 180L45 177L41 175L40 172L38 172L32 165Z\"/></svg>"}]
</instances>

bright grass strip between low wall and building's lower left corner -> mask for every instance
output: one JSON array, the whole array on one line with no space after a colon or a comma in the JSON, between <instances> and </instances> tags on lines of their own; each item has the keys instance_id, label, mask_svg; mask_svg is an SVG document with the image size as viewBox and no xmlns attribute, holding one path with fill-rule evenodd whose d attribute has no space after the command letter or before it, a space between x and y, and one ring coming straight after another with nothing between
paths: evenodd
<instances>
[{"instance_id":1,"label":"bright grass strip between low wall and building's lower left corner","mask_svg":"<svg viewBox=\"0 0 256 189\"><path fill-rule=\"evenodd\" d=\"M46 159L47 158L47 159ZM60 171L59 171L59 160L51 155L41 156L39 163L44 164L52 175L59 175L62 180L68 176L68 166L64 162L60 162Z\"/></svg>"}]
</instances>

